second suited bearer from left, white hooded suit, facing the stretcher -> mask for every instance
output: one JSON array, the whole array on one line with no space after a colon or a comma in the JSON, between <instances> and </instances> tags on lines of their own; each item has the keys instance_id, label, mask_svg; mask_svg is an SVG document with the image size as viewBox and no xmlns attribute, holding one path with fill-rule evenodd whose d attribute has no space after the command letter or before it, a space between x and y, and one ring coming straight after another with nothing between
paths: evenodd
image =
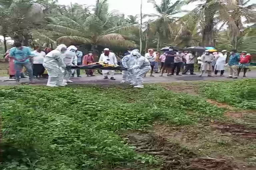
<instances>
[{"instance_id":1,"label":"second suited bearer from left, white hooded suit, facing the stretcher","mask_svg":"<svg viewBox=\"0 0 256 170\"><path fill-rule=\"evenodd\" d=\"M63 61L66 64L67 68L64 72L64 83L72 83L70 80L72 75L72 70L68 66L77 66L77 56L76 56L77 47L70 45L67 48L67 51L63 55Z\"/></svg>"}]
</instances>

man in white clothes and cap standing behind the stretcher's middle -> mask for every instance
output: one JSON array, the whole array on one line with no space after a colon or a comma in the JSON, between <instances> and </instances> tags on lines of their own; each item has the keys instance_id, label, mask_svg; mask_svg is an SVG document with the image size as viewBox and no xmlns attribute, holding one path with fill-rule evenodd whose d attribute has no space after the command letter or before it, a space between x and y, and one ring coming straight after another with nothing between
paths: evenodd
<instances>
[{"instance_id":1,"label":"man in white clothes and cap standing behind the stretcher's middle","mask_svg":"<svg viewBox=\"0 0 256 170\"><path fill-rule=\"evenodd\" d=\"M100 55L99 62L100 61L103 61L103 62L108 63L108 64L117 65L116 55L113 52L110 52L109 48L104 49L104 53L102 53ZM103 73L103 76L104 76L103 79L108 79L108 73L109 73L110 79L115 80L115 78L114 78L115 70L102 70L102 73Z\"/></svg>"}]
</instances>

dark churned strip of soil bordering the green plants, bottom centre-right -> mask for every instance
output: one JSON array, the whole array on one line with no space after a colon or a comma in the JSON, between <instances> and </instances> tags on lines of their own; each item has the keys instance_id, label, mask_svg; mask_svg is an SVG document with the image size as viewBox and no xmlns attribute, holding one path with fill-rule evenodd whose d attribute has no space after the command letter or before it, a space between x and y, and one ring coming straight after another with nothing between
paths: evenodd
<instances>
[{"instance_id":1,"label":"dark churned strip of soil bordering the green plants, bottom centre-right","mask_svg":"<svg viewBox=\"0 0 256 170\"><path fill-rule=\"evenodd\" d=\"M131 132L124 137L127 143L136 146L136 152L159 157L161 170L239 170L231 160L198 157L188 148L155 133Z\"/></svg>"}]
</instances>

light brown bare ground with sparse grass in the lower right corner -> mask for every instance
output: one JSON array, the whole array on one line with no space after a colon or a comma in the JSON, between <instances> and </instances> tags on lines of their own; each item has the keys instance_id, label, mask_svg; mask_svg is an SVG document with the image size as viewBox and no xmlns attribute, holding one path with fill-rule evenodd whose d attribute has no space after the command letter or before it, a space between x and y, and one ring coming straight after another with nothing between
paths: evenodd
<instances>
[{"instance_id":1,"label":"light brown bare ground with sparse grass in the lower right corner","mask_svg":"<svg viewBox=\"0 0 256 170\"><path fill-rule=\"evenodd\" d=\"M233 131L234 133L222 132L216 128L218 127L216 124L209 122L182 127L158 124L154 126L153 131L168 141L179 143L199 155L217 158L217 160L192 159L189 165L193 170L220 170L222 167L224 168L221 170L229 170L230 167L237 170L249 170L250 163L247 159L255 153L255 149L251 147L252 143L256 141L254 129L241 125L240 131L238 129L238 131ZM216 125L216 127L212 125ZM241 131L243 134L240 133ZM256 167L253 168L256 170Z\"/></svg>"}]
</instances>

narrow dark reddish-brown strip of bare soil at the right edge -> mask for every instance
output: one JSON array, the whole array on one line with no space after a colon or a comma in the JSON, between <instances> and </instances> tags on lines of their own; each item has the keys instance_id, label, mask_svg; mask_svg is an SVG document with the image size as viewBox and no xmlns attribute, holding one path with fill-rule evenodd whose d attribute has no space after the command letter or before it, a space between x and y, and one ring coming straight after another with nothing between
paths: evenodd
<instances>
[{"instance_id":1,"label":"narrow dark reddish-brown strip of bare soil at the right edge","mask_svg":"<svg viewBox=\"0 0 256 170\"><path fill-rule=\"evenodd\" d=\"M231 133L243 137L256 138L256 128L247 128L245 125L231 125L225 123L215 123L213 128L220 130L222 133Z\"/></svg>"}]
</instances>

